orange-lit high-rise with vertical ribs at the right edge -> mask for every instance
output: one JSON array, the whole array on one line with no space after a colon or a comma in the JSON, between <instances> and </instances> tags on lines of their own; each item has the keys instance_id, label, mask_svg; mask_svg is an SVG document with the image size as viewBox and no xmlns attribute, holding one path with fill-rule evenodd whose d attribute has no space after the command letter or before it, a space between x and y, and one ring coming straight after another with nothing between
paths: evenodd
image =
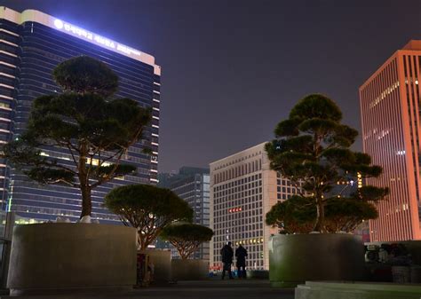
<instances>
[{"instance_id":1,"label":"orange-lit high-rise with vertical ribs at the right edge","mask_svg":"<svg viewBox=\"0 0 421 299\"><path fill-rule=\"evenodd\" d=\"M371 241L419 240L421 41L410 41L360 87L362 145L383 175L369 185L388 186L369 222Z\"/></svg>"}]
</instances>

